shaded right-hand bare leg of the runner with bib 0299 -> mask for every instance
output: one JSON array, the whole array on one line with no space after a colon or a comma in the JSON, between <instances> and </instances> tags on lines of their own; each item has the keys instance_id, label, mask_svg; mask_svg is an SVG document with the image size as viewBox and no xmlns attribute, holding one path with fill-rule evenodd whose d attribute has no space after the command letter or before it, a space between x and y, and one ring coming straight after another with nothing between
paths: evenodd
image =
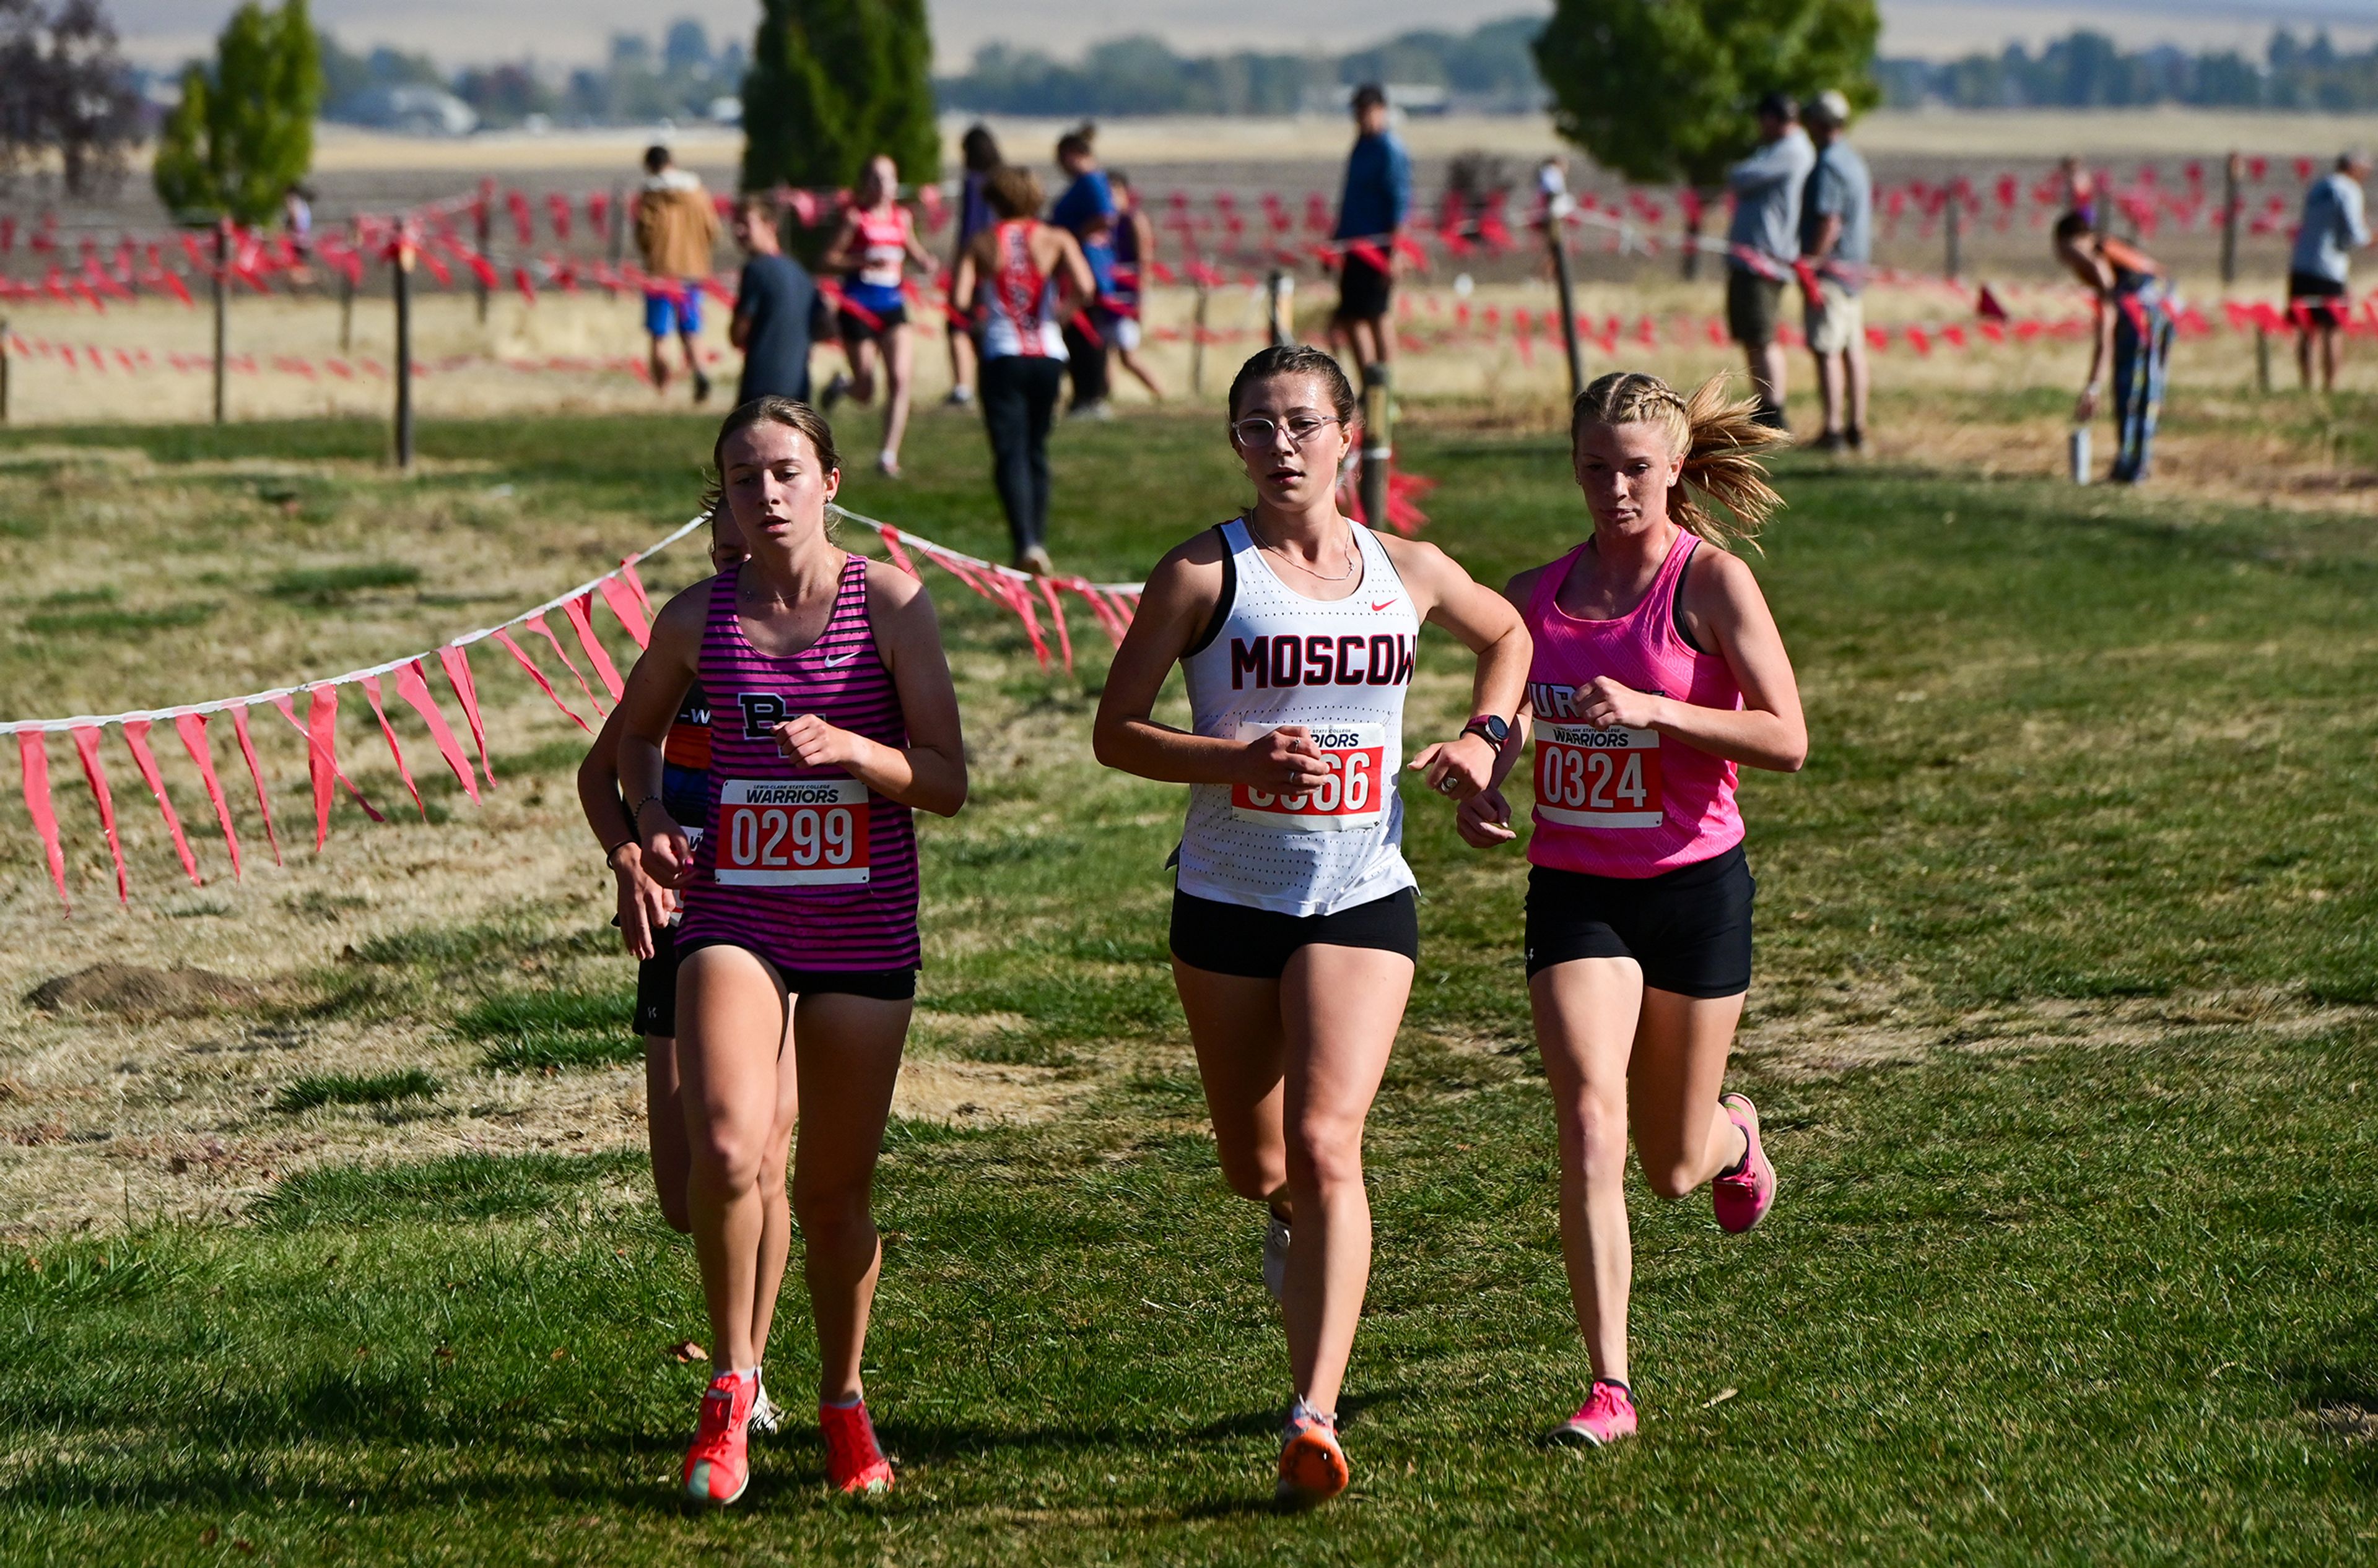
<instances>
[{"instance_id":1,"label":"shaded right-hand bare leg of the runner with bib 0299","mask_svg":"<svg viewBox=\"0 0 2378 1568\"><path fill-rule=\"evenodd\" d=\"M792 1166L792 1207L801 1216L809 1309L818 1319L818 1399L847 1404L863 1395L858 1364L868 1309L882 1269L882 1238L868 1212L875 1155L892 1114L892 1083L916 1003L866 995L804 995L794 1014L794 1055L813 1114L801 1126Z\"/></svg>"}]
</instances>

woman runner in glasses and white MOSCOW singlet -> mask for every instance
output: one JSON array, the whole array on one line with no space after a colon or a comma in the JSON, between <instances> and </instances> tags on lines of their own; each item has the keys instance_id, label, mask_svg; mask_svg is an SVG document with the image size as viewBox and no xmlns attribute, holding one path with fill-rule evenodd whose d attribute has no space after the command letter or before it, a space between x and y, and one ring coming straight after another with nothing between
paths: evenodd
<instances>
[{"instance_id":1,"label":"woman runner in glasses and white MOSCOW singlet","mask_svg":"<svg viewBox=\"0 0 2378 1568\"><path fill-rule=\"evenodd\" d=\"M1289 1501L1346 1490L1336 1395L1370 1278L1363 1119L1420 950L1396 794L1420 622L1479 656L1479 717L1413 758L1448 801L1484 786L1529 658L1520 613L1434 544L1339 516L1353 416L1353 387L1320 349L1246 361L1229 435L1256 506L1156 565L1096 725L1108 767L1191 786L1172 979L1222 1176L1272 1209L1265 1283L1296 1383L1279 1449ZM1175 663L1189 732L1149 717Z\"/></svg>"}]
</instances>

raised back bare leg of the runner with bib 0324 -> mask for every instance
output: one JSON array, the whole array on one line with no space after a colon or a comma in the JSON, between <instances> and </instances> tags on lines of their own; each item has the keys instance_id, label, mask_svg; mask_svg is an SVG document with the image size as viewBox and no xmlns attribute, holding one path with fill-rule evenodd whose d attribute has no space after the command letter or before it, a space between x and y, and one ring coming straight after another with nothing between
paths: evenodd
<instances>
[{"instance_id":1,"label":"raised back bare leg of the runner with bib 0324","mask_svg":"<svg viewBox=\"0 0 2378 1568\"><path fill-rule=\"evenodd\" d=\"M1643 1181L1660 1197L1686 1197L1710 1186L1750 1143L1717 1102L1741 1019L1741 995L1703 1000L1643 988L1627 1098Z\"/></svg>"}]
</instances>

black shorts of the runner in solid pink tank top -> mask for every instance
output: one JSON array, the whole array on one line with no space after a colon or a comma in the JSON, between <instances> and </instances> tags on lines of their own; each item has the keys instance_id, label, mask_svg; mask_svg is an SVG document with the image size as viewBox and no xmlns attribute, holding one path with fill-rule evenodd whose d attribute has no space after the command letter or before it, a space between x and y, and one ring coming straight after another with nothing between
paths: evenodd
<instances>
[{"instance_id":1,"label":"black shorts of the runner in solid pink tank top","mask_svg":"<svg viewBox=\"0 0 2378 1568\"><path fill-rule=\"evenodd\" d=\"M1631 957L1653 991L1741 995L1750 991L1755 893L1741 843L1657 877L1529 867L1527 974L1579 957Z\"/></svg>"}]
</instances>

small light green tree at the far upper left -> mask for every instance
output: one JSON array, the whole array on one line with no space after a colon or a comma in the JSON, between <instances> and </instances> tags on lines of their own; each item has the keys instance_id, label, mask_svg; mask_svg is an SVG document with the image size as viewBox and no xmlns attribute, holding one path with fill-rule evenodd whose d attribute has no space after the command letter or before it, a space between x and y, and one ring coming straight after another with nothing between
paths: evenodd
<instances>
[{"instance_id":1,"label":"small light green tree at the far upper left","mask_svg":"<svg viewBox=\"0 0 2378 1568\"><path fill-rule=\"evenodd\" d=\"M214 40L214 69L181 76L181 105L157 133L157 197L183 219L271 221L314 166L321 90L307 0L278 12L247 0Z\"/></svg>"}]
</instances>

